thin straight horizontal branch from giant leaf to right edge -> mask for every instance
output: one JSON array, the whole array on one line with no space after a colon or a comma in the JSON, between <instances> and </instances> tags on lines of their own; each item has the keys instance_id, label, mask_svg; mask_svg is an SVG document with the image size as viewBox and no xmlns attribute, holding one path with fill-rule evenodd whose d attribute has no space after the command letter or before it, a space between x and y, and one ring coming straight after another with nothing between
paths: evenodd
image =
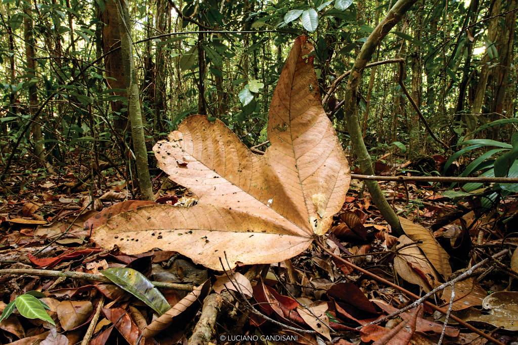
<instances>
[{"instance_id":1,"label":"thin straight horizontal branch from giant leaf to right edge","mask_svg":"<svg viewBox=\"0 0 518 345\"><path fill-rule=\"evenodd\" d=\"M351 178L368 181L422 181L422 182L479 182L479 183L518 183L518 177L450 177L450 176L376 176L351 174Z\"/></svg>"}]
</instances>

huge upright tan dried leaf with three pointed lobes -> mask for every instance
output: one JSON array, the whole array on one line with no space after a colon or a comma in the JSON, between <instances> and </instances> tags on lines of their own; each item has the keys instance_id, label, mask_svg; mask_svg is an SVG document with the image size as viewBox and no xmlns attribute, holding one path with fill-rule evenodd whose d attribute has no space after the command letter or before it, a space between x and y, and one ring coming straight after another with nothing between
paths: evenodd
<instances>
[{"instance_id":1,"label":"huge upright tan dried leaf with three pointed lobes","mask_svg":"<svg viewBox=\"0 0 518 345\"><path fill-rule=\"evenodd\" d=\"M159 167L199 198L190 207L151 205L114 216L93 240L126 253L178 251L222 269L275 263L325 233L344 202L350 174L326 116L313 69L313 47L296 39L270 104L265 155L249 151L217 120L186 118L153 148ZM226 258L225 258L226 254ZM227 267L225 267L227 268Z\"/></svg>"}]
</instances>

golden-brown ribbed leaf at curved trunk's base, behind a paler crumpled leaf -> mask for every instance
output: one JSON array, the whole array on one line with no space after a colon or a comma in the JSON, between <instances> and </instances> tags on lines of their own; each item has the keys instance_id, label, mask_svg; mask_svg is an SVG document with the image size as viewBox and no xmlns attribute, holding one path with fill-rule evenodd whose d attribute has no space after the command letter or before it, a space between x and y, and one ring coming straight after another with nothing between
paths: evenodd
<instances>
[{"instance_id":1,"label":"golden-brown ribbed leaf at curved trunk's base, behind a paler crumpled leaf","mask_svg":"<svg viewBox=\"0 0 518 345\"><path fill-rule=\"evenodd\" d=\"M452 268L450 266L450 256L437 242L435 236L426 228L419 224L411 222L410 220L399 217L401 228L408 237L413 241L423 241L419 244L430 263L434 266L437 272L442 275L443 278L448 278L452 274Z\"/></svg>"}]
</instances>

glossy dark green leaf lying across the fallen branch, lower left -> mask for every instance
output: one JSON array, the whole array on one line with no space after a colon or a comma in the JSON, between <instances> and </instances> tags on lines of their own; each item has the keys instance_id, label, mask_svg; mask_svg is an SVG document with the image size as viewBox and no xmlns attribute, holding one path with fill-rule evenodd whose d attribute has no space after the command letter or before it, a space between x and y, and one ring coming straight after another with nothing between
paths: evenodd
<instances>
[{"instance_id":1,"label":"glossy dark green leaf lying across the fallen branch, lower left","mask_svg":"<svg viewBox=\"0 0 518 345\"><path fill-rule=\"evenodd\" d=\"M112 267L104 269L100 273L119 288L126 290L146 303L160 315L171 308L165 297L153 286L151 281L133 268Z\"/></svg>"}]
</instances>

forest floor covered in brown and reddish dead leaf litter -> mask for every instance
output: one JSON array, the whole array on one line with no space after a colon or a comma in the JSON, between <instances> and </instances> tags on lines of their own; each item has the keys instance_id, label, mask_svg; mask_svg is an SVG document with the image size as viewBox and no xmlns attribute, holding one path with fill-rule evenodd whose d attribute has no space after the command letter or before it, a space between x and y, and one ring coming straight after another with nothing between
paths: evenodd
<instances>
[{"instance_id":1,"label":"forest floor covered in brown and reddish dead leaf litter","mask_svg":"<svg viewBox=\"0 0 518 345\"><path fill-rule=\"evenodd\" d=\"M33 294L48 306L55 326L15 310L0 323L0 343L196 343L203 332L218 344L484 344L491 337L497 343L518 341L518 254L512 255L518 245L515 199L483 213L477 211L476 200L452 202L442 196L445 187L437 184L384 182L394 209L413 222L405 231L408 236L397 238L363 183L353 180L342 211L320 245L278 264L222 273L176 252L126 255L94 247L89 241L92 229L114 214L154 203L134 200L116 172L97 187L87 187L73 173L18 171L1 191L0 310L16 297L38 291ZM93 181L95 186L99 178ZM165 176L154 184L159 190L156 203L196 203ZM449 255L449 276L430 265L429 244L414 236L423 227L447 254L436 253L447 259ZM133 268L154 282L181 287L160 288L174 311L151 332L153 338L144 339L156 325L152 308L106 279L102 271L109 267ZM20 269L32 271L16 271ZM91 275L57 277L56 271ZM427 305L401 309L417 299L414 295L423 296L459 277L428 298ZM208 297L207 280L215 293ZM127 284L131 280L122 287L127 289ZM203 288L194 295L185 291L193 286ZM448 327L443 327L444 312L430 304L448 314ZM391 313L395 315L387 318ZM162 328L166 331L160 332Z\"/></svg>"}]
</instances>

